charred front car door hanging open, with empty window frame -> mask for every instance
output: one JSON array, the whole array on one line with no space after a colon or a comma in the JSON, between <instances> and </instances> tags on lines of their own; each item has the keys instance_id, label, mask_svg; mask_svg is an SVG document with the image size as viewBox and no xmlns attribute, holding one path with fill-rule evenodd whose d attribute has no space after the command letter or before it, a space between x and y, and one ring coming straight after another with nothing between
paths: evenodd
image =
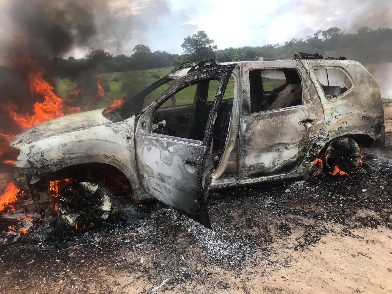
<instances>
[{"instance_id":1,"label":"charred front car door hanging open, with empty window frame","mask_svg":"<svg viewBox=\"0 0 392 294\"><path fill-rule=\"evenodd\" d=\"M145 109L138 119L135 132L138 174L145 191L210 229L206 198L212 172L211 141L216 114L220 110L221 100L234 67L235 65L221 66L215 62L209 65L201 62L192 67L185 77L174 83ZM208 85L209 80L218 80L220 86L208 115L203 137L195 140L191 135L190 138L183 138L165 132L153 132L155 113L163 103L174 94L179 100L178 93L196 83L203 86L197 86L194 103L203 100L206 98L203 93L208 93L205 84Z\"/></svg>"}]
</instances>

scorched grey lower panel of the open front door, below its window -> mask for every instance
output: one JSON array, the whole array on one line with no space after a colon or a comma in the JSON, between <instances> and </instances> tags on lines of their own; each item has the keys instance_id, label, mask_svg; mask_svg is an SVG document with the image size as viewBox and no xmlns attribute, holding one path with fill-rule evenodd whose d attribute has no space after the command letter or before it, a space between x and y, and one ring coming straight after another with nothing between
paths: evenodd
<instances>
[{"instance_id":1,"label":"scorched grey lower panel of the open front door, below its window","mask_svg":"<svg viewBox=\"0 0 392 294\"><path fill-rule=\"evenodd\" d=\"M144 159L140 181L147 193L171 207L183 208L183 213L209 226L204 194L199 191L203 188L200 182L206 181L202 178L204 156L200 155L208 147L187 141L158 134L145 136L141 148L136 149L136 156Z\"/></svg>"}]
</instances>

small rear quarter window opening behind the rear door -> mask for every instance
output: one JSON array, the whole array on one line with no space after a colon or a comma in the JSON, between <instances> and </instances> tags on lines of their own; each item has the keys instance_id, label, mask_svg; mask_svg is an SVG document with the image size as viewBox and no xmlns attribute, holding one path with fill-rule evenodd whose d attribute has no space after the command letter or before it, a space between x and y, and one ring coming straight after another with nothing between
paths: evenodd
<instances>
[{"instance_id":1,"label":"small rear quarter window opening behind the rear door","mask_svg":"<svg viewBox=\"0 0 392 294\"><path fill-rule=\"evenodd\" d=\"M334 98L348 91L352 83L342 69L319 67L314 70L326 98Z\"/></svg>"}]
</instances>

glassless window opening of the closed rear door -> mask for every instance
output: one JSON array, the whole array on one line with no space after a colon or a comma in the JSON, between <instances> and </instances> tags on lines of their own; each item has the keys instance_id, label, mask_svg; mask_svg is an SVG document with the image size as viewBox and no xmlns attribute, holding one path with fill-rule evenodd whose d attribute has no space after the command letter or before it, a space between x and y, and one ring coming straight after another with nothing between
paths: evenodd
<instances>
[{"instance_id":1,"label":"glassless window opening of the closed rear door","mask_svg":"<svg viewBox=\"0 0 392 294\"><path fill-rule=\"evenodd\" d=\"M295 69L249 72L250 112L303 105L302 85Z\"/></svg>"}]
</instances>

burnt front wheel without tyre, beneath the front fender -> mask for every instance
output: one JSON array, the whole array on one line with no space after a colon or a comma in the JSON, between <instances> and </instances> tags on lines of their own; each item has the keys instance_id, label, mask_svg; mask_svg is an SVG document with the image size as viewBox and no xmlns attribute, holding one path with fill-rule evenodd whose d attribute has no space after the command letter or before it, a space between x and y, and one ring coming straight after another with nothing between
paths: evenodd
<instances>
[{"instance_id":1,"label":"burnt front wheel without tyre, beneath the front fender","mask_svg":"<svg viewBox=\"0 0 392 294\"><path fill-rule=\"evenodd\" d=\"M65 187L58 199L62 219L75 229L101 225L112 208L111 194L97 181L85 180Z\"/></svg>"}]
</instances>

